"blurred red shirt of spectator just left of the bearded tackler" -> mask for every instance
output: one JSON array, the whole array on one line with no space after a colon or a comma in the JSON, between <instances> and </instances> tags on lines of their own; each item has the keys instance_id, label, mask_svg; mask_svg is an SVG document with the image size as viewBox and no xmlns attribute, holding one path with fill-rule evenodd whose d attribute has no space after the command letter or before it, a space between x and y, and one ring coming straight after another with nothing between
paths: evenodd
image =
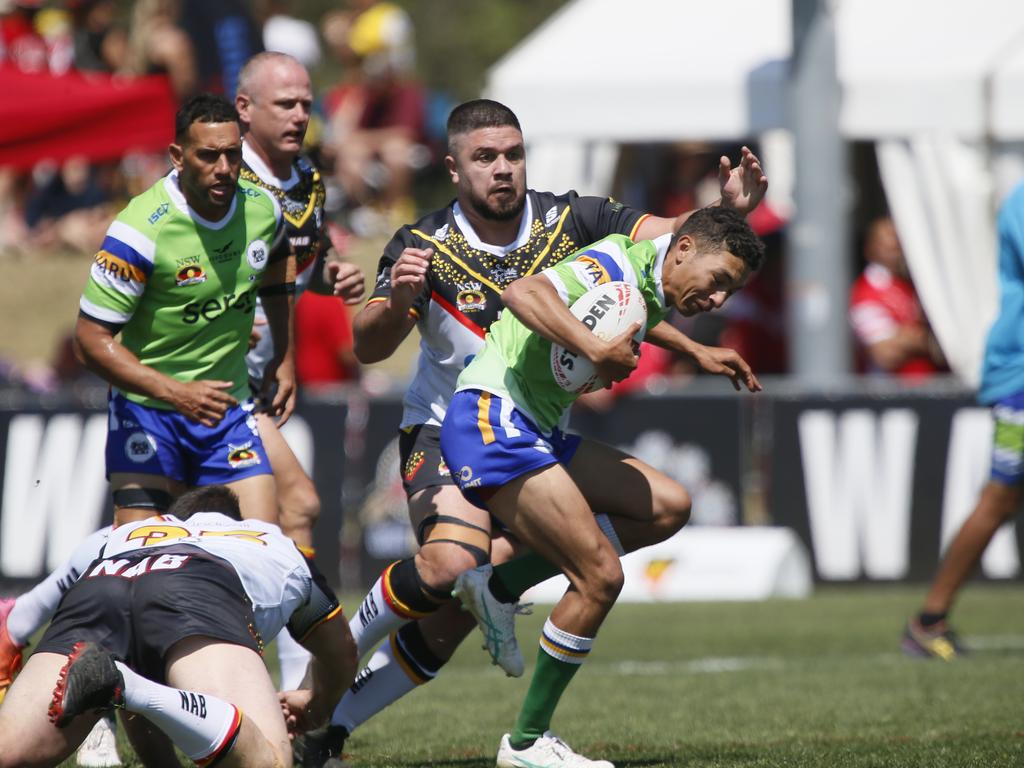
<instances>
[{"instance_id":1,"label":"blurred red shirt of spectator just left of the bearded tackler","mask_svg":"<svg viewBox=\"0 0 1024 768\"><path fill-rule=\"evenodd\" d=\"M305 291L295 305L295 373L302 386L355 381L352 323L337 296Z\"/></svg>"}]
</instances>

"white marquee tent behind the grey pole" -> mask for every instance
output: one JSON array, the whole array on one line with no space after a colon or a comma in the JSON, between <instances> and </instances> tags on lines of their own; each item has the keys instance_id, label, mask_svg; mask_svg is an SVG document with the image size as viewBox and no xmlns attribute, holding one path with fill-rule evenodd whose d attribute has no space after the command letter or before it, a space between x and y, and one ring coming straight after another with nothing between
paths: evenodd
<instances>
[{"instance_id":1,"label":"white marquee tent behind the grey pole","mask_svg":"<svg viewBox=\"0 0 1024 768\"><path fill-rule=\"evenodd\" d=\"M996 307L995 205L1024 176L1024 2L834 0L843 135L873 140L914 281L974 383ZM761 137L786 197L790 0L574 0L488 73L530 183L597 193L626 141ZM813 162L813 159L800 159Z\"/></svg>"}]
</instances>

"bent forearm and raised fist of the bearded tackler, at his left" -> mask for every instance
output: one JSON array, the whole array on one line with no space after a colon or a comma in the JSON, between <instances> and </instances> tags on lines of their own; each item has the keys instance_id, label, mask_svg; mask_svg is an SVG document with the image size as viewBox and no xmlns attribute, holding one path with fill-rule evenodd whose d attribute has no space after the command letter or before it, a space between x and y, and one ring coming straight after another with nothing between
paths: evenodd
<instances>
[{"instance_id":1,"label":"bent forearm and raised fist of the bearded tackler, at his left","mask_svg":"<svg viewBox=\"0 0 1024 768\"><path fill-rule=\"evenodd\" d=\"M362 307L352 322L355 356L359 362L390 357L416 326L410 311L427 282L432 248L407 248L391 265L391 294L385 301Z\"/></svg>"}]
</instances>

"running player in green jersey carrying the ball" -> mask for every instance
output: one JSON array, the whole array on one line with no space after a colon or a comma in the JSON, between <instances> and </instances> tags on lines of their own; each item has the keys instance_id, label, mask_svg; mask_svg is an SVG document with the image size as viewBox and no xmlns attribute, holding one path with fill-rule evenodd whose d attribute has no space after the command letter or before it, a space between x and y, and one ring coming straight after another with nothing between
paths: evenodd
<instances>
[{"instance_id":1,"label":"running player in green jersey carrying the ball","mask_svg":"<svg viewBox=\"0 0 1024 768\"><path fill-rule=\"evenodd\" d=\"M652 485L655 477L666 481L633 457L595 450L592 441L564 431L577 395L555 382L551 345L586 357L603 381L620 381L636 368L633 336L640 328L634 324L604 341L568 306L595 286L625 281L639 289L653 329L672 308L688 316L722 306L760 267L763 255L742 217L723 208L696 211L675 234L654 241L634 244L610 236L505 289L508 311L459 376L440 436L453 477L470 502L487 509L571 585L544 626L526 698L515 728L501 741L500 768L611 767L572 752L549 726L622 589L618 555L656 539ZM660 333L647 340L676 348ZM742 380L751 391L761 388L753 374ZM586 464L580 466L573 457L582 455ZM675 493L688 498L681 485ZM627 505L632 518L616 517L610 525L595 518L609 498L621 496L633 500ZM490 566L460 575L456 594L476 616L495 660L520 671L514 604Z\"/></svg>"}]
</instances>

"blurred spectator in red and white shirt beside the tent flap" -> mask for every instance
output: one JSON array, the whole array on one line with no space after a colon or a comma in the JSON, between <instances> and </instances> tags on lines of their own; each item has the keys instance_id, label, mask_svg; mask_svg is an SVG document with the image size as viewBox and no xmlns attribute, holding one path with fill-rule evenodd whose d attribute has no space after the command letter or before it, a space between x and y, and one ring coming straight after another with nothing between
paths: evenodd
<instances>
[{"instance_id":1,"label":"blurred spectator in red and white shirt beside the tent flap","mask_svg":"<svg viewBox=\"0 0 1024 768\"><path fill-rule=\"evenodd\" d=\"M904 379L946 370L889 217L868 225L864 258L867 266L850 292L850 325L865 370Z\"/></svg>"}]
</instances>

